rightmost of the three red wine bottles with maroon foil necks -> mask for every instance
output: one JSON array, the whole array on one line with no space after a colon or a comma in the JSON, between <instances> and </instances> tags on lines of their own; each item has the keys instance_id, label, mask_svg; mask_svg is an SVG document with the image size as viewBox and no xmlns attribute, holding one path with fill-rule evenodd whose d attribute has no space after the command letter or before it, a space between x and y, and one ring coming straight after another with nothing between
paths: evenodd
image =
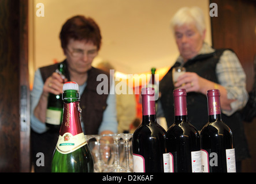
<instances>
[{"instance_id":1,"label":"rightmost of the three red wine bottles with maroon foil necks","mask_svg":"<svg viewBox=\"0 0 256 184\"><path fill-rule=\"evenodd\" d=\"M203 173L235 173L236 160L231 129L221 120L220 91L207 91L208 122L202 128Z\"/></svg>"}]
</instances>

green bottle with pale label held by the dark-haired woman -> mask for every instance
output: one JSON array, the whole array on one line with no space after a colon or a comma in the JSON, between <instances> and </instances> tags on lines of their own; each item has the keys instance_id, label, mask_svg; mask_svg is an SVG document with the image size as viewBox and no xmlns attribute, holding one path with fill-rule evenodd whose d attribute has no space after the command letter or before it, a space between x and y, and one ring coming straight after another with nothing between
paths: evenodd
<instances>
[{"instance_id":1,"label":"green bottle with pale label held by the dark-haired woman","mask_svg":"<svg viewBox=\"0 0 256 184\"><path fill-rule=\"evenodd\" d=\"M64 80L64 71L65 64L59 63L58 69L55 71L61 75L61 78ZM46 110L46 126L50 129L56 129L57 131L61 127L63 116L63 100L61 98L61 94L55 95L53 93L49 93L48 104Z\"/></svg>"}]
</instances>

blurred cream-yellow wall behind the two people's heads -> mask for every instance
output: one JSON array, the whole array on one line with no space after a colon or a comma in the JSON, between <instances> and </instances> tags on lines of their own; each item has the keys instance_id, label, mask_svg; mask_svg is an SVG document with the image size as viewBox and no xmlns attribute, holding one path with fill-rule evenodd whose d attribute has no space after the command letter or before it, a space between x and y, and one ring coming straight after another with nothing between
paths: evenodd
<instances>
[{"instance_id":1,"label":"blurred cream-yellow wall behind the two people's heads","mask_svg":"<svg viewBox=\"0 0 256 184\"><path fill-rule=\"evenodd\" d=\"M209 1L206 0L31 0L29 42L34 70L65 59L59 34L64 22L77 14L92 17L102 33L102 47L95 58L109 60L116 71L140 74L151 67L169 67L179 52L170 30L170 19L183 6L199 6L205 13L206 41L212 44ZM43 3L44 17L36 16ZM40 5L40 4L39 4ZM31 73L32 74L32 73Z\"/></svg>"}]
</instances>

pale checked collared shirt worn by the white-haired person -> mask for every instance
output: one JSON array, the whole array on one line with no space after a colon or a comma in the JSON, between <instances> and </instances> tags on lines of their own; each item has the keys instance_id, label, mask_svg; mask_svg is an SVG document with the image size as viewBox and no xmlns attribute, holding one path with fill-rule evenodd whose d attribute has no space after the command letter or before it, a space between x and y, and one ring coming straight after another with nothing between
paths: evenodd
<instances>
[{"instance_id":1,"label":"pale checked collared shirt worn by the white-haired person","mask_svg":"<svg viewBox=\"0 0 256 184\"><path fill-rule=\"evenodd\" d=\"M207 43L203 43L198 55L212 53L215 49L210 47ZM178 57L177 62L184 64L181 56ZM216 75L218 82L227 90L228 99L236 99L231 103L231 110L222 110L222 113L231 116L236 111L242 109L248 101L248 93L246 91L246 74L239 62L238 57L232 51L224 51L216 66Z\"/></svg>"}]
</instances>

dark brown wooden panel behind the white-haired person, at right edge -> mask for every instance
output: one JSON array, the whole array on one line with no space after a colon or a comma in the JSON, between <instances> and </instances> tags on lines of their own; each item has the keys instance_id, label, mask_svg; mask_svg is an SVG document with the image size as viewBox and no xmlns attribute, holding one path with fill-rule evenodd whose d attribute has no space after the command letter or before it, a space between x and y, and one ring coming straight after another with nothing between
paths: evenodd
<instances>
[{"instance_id":1,"label":"dark brown wooden panel behind the white-haired person, at right edge","mask_svg":"<svg viewBox=\"0 0 256 184\"><path fill-rule=\"evenodd\" d=\"M212 43L214 48L232 48L246 72L247 91L254 82L253 60L256 55L256 1L211 0L217 3L218 17L212 17ZM242 172L256 172L256 118L244 122L251 158L243 160Z\"/></svg>"}]
</instances>

